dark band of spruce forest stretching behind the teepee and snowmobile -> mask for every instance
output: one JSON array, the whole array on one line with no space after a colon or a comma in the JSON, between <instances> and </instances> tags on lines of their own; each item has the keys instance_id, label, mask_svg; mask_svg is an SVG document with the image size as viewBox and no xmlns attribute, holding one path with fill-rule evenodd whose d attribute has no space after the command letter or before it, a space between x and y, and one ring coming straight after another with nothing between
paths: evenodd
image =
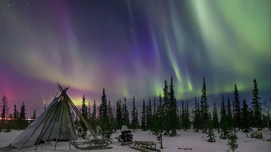
<instances>
[{"instance_id":1,"label":"dark band of spruce forest stretching behind the teepee and snowmobile","mask_svg":"<svg viewBox=\"0 0 271 152\"><path fill-rule=\"evenodd\" d=\"M177 130L193 129L195 132L201 130L204 134L208 134L210 142L215 142L214 130L220 133L221 139L227 139L230 138L232 131L249 132L252 131L252 128L262 130L264 127L269 129L271 100L260 102L256 79L253 80L253 98L250 104L245 99L241 102L238 87L235 84L233 99L231 100L229 97L225 99L222 95L220 110L218 111L214 102L213 109L210 111L205 78L203 78L201 92L200 100L197 97L194 99L194 108L189 110L187 100L186 102L182 101L182 106L179 109L171 76L169 84L167 80L164 81L163 92L159 94L157 102L155 97L153 100L149 98L146 102L143 99L140 117L135 106L135 97L132 98L131 111L128 110L126 97L117 100L115 107L112 108L111 101L107 99L105 94L105 89L103 89L101 103L98 107L95 100L91 107L89 102L86 103L85 95L83 95L80 112L90 126L95 131L98 130L102 138L111 138L112 134L121 129L122 125L127 125L134 131L142 129L142 131L149 131L149 134L156 135L161 148L162 136L176 136ZM25 129L29 125L24 102L20 112L14 105L13 113L9 113L8 99L4 95L1 99L0 112L2 118L0 130ZM78 116L73 116L79 120L79 123L82 123ZM35 110L30 119L36 119ZM86 130L87 128L82 128L82 131L86 132Z\"/></svg>"}]
</instances>

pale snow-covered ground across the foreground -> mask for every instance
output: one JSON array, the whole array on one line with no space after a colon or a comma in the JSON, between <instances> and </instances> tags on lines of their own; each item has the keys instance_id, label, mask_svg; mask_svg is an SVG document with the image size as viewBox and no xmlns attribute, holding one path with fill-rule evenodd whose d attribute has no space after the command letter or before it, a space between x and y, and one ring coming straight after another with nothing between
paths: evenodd
<instances>
[{"instance_id":1,"label":"pale snow-covered ground across the foreground","mask_svg":"<svg viewBox=\"0 0 271 152\"><path fill-rule=\"evenodd\" d=\"M271 151L271 141L266 141L266 139L271 138L271 132L264 132L265 130L261 131L263 133L263 139L252 139L246 138L246 134L239 131L238 135L238 144L240 152L269 152ZM13 139L15 139L22 131L12 130L12 132L4 133L0 132L0 147L5 147L10 144ZM119 136L120 133L113 134L113 137ZM162 152L182 152L182 151L191 151L191 152L225 152L228 149L226 143L227 140L220 139L219 134L216 133L216 142L210 143L207 142L208 138L207 135L203 135L201 132L183 132L178 131L178 136L176 137L169 137L163 136L163 147ZM248 133L250 136L250 133ZM136 131L133 133L134 140L137 141L157 141L156 136L152 134L149 135L148 131ZM203 136L203 138L202 138ZM244 142L245 141L245 142ZM52 144L40 144L36 152L45 151L45 152L55 152L55 142L52 141ZM112 140L112 144L110 145L112 149L103 149L103 150L92 150L91 152L139 152L138 150L131 149L128 146L120 146L120 142L117 139ZM192 150L182 150L178 149L187 147L192 148ZM72 151L83 151L79 149L75 149L71 145ZM157 148L160 148L160 144L157 144ZM0 150L1 151L1 150ZM2 150L2 151L19 151L19 149L11 149L11 150ZM23 151L35 151L35 147L31 148L24 148ZM58 142L56 151L70 151L68 142ZM151 150L149 150L152 152Z\"/></svg>"}]
</instances>

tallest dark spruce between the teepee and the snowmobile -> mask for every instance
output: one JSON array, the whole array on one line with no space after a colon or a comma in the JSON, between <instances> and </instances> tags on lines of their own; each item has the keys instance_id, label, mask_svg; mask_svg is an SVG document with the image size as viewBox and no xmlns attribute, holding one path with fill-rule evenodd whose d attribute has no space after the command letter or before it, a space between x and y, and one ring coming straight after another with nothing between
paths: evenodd
<instances>
[{"instance_id":1,"label":"tallest dark spruce between the teepee and the snowmobile","mask_svg":"<svg viewBox=\"0 0 271 152\"><path fill-rule=\"evenodd\" d=\"M106 138L106 133L108 131L108 115L107 115L107 100L105 90L103 89L103 94L101 98L101 105L99 110L99 121L101 127L102 138Z\"/></svg>"}]
</instances>

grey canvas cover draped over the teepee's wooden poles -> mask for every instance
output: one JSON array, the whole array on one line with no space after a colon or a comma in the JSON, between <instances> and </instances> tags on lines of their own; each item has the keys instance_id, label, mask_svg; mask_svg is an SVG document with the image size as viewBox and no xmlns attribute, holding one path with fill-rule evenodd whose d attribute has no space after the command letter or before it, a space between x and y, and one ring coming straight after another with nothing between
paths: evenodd
<instances>
[{"instance_id":1,"label":"grey canvas cover draped over the teepee's wooden poles","mask_svg":"<svg viewBox=\"0 0 271 152\"><path fill-rule=\"evenodd\" d=\"M70 140L77 140L76 133L75 133L75 125L74 125L74 121L73 121L69 104L66 104L66 109L67 109L66 119L68 119L69 120L68 122L70 123L69 124L67 123L66 125L67 121L65 119L64 114L62 115L62 120L61 120L61 105L59 104L59 100L60 100L60 97L55 98L47 107L47 109L42 114L40 114L40 116L37 117L37 119L33 121L16 139L13 140L11 145L15 148L21 148L23 145L24 145L23 148L33 147L39 136L40 136L40 139L45 140L45 141L55 140L58 133L59 123L61 123L60 125L61 128L60 128L60 134L59 134L58 139L67 140L68 139L67 132L68 132ZM45 118L46 116L48 116L47 121ZM31 136L33 132L34 134ZM25 143L26 140L28 141Z\"/></svg>"}]
</instances>

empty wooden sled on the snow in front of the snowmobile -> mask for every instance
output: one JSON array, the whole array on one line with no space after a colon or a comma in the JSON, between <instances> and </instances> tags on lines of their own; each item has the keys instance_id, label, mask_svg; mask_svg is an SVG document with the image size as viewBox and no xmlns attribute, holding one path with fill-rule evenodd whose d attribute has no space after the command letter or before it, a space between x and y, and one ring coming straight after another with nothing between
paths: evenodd
<instances>
[{"instance_id":1,"label":"empty wooden sled on the snow in front of the snowmobile","mask_svg":"<svg viewBox=\"0 0 271 152\"><path fill-rule=\"evenodd\" d=\"M146 149L154 150L160 152L160 149L156 149L156 143L152 141L135 141L135 142L127 142L127 145L135 150L139 150L142 152L149 152Z\"/></svg>"}]
</instances>

